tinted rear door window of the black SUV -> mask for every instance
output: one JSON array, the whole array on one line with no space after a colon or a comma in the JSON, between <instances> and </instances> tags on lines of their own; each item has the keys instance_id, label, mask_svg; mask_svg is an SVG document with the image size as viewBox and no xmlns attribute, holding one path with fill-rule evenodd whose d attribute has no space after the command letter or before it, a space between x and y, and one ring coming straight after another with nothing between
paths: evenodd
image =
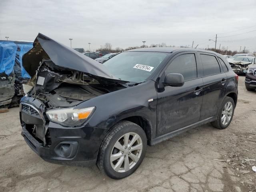
<instances>
[{"instance_id":1,"label":"tinted rear door window of the black SUV","mask_svg":"<svg viewBox=\"0 0 256 192\"><path fill-rule=\"evenodd\" d=\"M220 66L215 56L200 54L203 68L204 76L213 75L220 73Z\"/></svg>"}]
</instances>

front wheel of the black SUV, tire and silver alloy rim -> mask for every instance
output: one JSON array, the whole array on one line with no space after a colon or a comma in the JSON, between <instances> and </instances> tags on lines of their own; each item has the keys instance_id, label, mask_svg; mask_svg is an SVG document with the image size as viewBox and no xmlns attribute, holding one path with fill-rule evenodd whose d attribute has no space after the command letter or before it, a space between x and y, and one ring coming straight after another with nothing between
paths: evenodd
<instances>
[{"instance_id":1,"label":"front wheel of the black SUV, tire and silver alloy rim","mask_svg":"<svg viewBox=\"0 0 256 192\"><path fill-rule=\"evenodd\" d=\"M144 130L135 123L121 121L114 125L104 138L97 166L110 178L122 179L140 166L146 147Z\"/></svg>"}]
</instances>

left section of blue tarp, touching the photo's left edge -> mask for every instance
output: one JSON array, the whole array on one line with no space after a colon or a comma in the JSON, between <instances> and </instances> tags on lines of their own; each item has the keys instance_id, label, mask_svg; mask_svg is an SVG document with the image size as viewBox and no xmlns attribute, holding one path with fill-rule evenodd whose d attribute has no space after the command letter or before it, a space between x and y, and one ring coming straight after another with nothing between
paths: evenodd
<instances>
[{"instance_id":1,"label":"left section of blue tarp, touching the photo's left edge","mask_svg":"<svg viewBox=\"0 0 256 192\"><path fill-rule=\"evenodd\" d=\"M0 41L0 73L10 75L15 64L17 45L13 42Z\"/></svg>"}]
</instances>

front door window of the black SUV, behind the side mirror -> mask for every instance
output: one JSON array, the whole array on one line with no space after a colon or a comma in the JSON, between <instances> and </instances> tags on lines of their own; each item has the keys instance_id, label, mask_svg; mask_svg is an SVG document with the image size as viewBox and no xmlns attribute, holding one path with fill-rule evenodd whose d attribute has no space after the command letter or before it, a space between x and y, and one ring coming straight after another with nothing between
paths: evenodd
<instances>
[{"instance_id":1,"label":"front door window of the black SUV, behind the side mirror","mask_svg":"<svg viewBox=\"0 0 256 192\"><path fill-rule=\"evenodd\" d=\"M197 78L195 55L184 54L176 57L166 68L165 74L168 73L180 73L185 81Z\"/></svg>"}]
</instances>

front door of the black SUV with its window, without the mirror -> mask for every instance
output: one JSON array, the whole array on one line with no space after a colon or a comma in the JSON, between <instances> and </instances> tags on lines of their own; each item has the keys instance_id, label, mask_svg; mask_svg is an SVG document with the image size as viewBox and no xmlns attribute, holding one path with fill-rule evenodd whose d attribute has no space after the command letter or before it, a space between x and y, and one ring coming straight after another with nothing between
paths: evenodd
<instances>
[{"instance_id":1,"label":"front door of the black SUV with its window, without the mirror","mask_svg":"<svg viewBox=\"0 0 256 192\"><path fill-rule=\"evenodd\" d=\"M164 86L158 89L156 136L188 126L200 119L203 80L198 77L194 52L180 53L167 64L162 77L180 73L185 83L181 87ZM159 82L161 84L161 82Z\"/></svg>"}]
</instances>

